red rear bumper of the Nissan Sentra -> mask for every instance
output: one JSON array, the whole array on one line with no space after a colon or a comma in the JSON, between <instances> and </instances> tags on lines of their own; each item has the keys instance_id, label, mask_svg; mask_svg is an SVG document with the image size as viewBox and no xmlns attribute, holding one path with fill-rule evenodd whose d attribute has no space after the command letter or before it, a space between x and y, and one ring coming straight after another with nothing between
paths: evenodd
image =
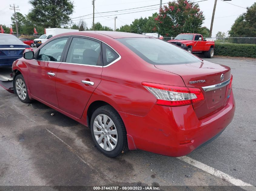
<instances>
[{"instance_id":1,"label":"red rear bumper of the Nissan Sentra","mask_svg":"<svg viewBox=\"0 0 256 191\"><path fill-rule=\"evenodd\" d=\"M201 120L198 120L192 105L154 105L144 117L119 113L126 126L129 149L180 157L217 138L232 121L234 112L231 91L224 108Z\"/></svg>"}]
</instances>

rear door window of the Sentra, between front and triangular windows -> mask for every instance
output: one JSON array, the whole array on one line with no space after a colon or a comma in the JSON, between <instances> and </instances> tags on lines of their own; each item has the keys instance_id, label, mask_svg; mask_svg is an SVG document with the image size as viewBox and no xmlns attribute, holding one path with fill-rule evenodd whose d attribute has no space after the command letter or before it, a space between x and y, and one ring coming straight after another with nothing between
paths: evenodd
<instances>
[{"instance_id":1,"label":"rear door window of the Sentra, between front and triangular windows","mask_svg":"<svg viewBox=\"0 0 256 191\"><path fill-rule=\"evenodd\" d=\"M68 49L67 63L101 66L100 43L85 38L73 38Z\"/></svg>"}]
</instances>

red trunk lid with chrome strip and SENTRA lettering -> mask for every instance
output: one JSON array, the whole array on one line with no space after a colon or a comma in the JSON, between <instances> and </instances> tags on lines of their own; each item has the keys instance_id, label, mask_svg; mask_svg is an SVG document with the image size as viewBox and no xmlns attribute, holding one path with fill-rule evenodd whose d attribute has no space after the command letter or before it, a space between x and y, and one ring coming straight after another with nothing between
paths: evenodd
<instances>
[{"instance_id":1,"label":"red trunk lid with chrome strip and SENTRA lettering","mask_svg":"<svg viewBox=\"0 0 256 191\"><path fill-rule=\"evenodd\" d=\"M207 61L180 65L155 65L156 68L180 75L187 87L199 88L204 94L204 100L193 103L198 119L207 117L221 110L227 103L231 93L229 83L215 90L204 91L202 87L212 86L228 81L231 71L228 66ZM221 75L224 75L221 81ZM171 82L169 83L171 85Z\"/></svg>"}]
</instances>

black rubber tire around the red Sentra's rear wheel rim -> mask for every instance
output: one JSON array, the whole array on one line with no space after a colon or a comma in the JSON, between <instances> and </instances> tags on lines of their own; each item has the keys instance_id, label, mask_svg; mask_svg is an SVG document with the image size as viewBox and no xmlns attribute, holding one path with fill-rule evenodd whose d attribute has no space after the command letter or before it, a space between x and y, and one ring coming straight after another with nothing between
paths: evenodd
<instances>
[{"instance_id":1,"label":"black rubber tire around the red Sentra's rear wheel rim","mask_svg":"<svg viewBox=\"0 0 256 191\"><path fill-rule=\"evenodd\" d=\"M115 148L112 151L106 151L103 149L99 143L96 141L95 135L94 135L94 121L96 120L98 115L107 115L114 123L115 129L117 131L117 144ZM104 123L104 122L103 122ZM106 122L107 123L107 122ZM125 125L123 123L123 120L119 116L118 112L111 106L105 105L102 107L99 107L96 109L92 116L91 116L91 122L90 122L90 128L91 128L91 136L92 139L97 146L97 148L106 156L108 157L117 157L119 154L124 154L128 151L128 142L127 142L127 133L125 129ZM96 135L96 136L105 136L105 135ZM102 142L104 142L104 138L102 138Z\"/></svg>"}]
</instances>

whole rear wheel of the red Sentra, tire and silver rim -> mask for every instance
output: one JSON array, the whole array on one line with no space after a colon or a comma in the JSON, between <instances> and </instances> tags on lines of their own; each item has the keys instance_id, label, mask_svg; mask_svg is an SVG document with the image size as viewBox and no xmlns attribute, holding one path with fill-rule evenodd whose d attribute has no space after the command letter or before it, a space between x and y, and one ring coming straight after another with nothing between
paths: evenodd
<instances>
[{"instance_id":1,"label":"whole rear wheel of the red Sentra, tire and silver rim","mask_svg":"<svg viewBox=\"0 0 256 191\"><path fill-rule=\"evenodd\" d=\"M125 125L111 106L96 109L91 116L91 135L97 148L108 157L128 151Z\"/></svg>"}]
</instances>

